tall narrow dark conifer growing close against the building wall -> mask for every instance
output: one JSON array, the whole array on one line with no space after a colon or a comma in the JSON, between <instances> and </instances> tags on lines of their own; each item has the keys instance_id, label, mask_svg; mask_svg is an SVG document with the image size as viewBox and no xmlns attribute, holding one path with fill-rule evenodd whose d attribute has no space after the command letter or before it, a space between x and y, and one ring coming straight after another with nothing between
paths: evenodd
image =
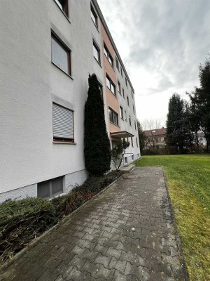
<instances>
[{"instance_id":1,"label":"tall narrow dark conifer growing close against the building wall","mask_svg":"<svg viewBox=\"0 0 210 281\"><path fill-rule=\"evenodd\" d=\"M89 75L85 103L85 166L90 174L102 175L110 169L111 148L106 131L104 103L95 74Z\"/></svg>"}]
</instances>

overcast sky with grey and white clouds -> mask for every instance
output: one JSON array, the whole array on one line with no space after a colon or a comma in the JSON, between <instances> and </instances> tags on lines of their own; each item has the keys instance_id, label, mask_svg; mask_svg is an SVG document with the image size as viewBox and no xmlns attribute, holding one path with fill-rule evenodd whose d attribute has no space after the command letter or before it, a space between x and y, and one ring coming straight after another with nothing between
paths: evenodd
<instances>
[{"instance_id":1,"label":"overcast sky with grey and white clouds","mask_svg":"<svg viewBox=\"0 0 210 281\"><path fill-rule=\"evenodd\" d=\"M165 126L210 53L210 0L98 0L135 90L137 117Z\"/></svg>"}]
</instances>

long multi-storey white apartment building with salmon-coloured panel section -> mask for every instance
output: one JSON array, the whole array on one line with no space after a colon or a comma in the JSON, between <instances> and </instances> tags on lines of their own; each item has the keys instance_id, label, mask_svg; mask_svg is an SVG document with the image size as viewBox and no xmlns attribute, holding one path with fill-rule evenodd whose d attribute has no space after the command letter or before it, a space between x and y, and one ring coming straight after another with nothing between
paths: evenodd
<instances>
[{"instance_id":1,"label":"long multi-storey white apartment building with salmon-coloured panel section","mask_svg":"<svg viewBox=\"0 0 210 281\"><path fill-rule=\"evenodd\" d=\"M85 181L84 106L92 73L111 144L128 138L123 163L138 159L134 89L97 1L0 5L0 202L50 198Z\"/></svg>"}]
</instances>

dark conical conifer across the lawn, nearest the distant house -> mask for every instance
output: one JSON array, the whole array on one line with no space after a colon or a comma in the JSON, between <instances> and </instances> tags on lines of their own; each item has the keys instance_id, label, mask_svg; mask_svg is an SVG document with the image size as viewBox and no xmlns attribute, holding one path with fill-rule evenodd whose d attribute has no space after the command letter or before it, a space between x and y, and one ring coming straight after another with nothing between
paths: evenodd
<instances>
[{"instance_id":1,"label":"dark conical conifer across the lawn, nearest the distant house","mask_svg":"<svg viewBox=\"0 0 210 281\"><path fill-rule=\"evenodd\" d=\"M176 146L181 153L188 143L188 129L186 128L186 110L184 100L174 93L169 99L169 113L167 114L167 143Z\"/></svg>"}]
</instances>

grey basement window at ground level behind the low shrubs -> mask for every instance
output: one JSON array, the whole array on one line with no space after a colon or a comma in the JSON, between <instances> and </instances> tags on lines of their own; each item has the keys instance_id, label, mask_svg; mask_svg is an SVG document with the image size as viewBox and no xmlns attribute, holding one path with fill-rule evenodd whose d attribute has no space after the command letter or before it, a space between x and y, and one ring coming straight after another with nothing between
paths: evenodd
<instances>
[{"instance_id":1,"label":"grey basement window at ground level behind the low shrubs","mask_svg":"<svg viewBox=\"0 0 210 281\"><path fill-rule=\"evenodd\" d=\"M37 184L37 197L52 198L63 192L63 176Z\"/></svg>"}]
</instances>

